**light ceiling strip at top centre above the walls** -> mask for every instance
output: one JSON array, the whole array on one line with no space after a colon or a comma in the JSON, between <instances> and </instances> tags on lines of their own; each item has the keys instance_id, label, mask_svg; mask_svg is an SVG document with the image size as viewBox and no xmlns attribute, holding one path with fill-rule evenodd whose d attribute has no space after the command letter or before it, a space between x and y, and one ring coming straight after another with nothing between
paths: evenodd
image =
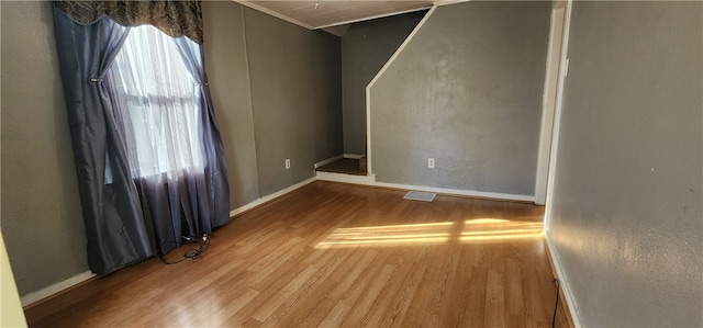
<instances>
[{"instance_id":1,"label":"light ceiling strip at top centre above the walls","mask_svg":"<svg viewBox=\"0 0 703 328\"><path fill-rule=\"evenodd\" d=\"M344 31L346 31L346 29L344 29L345 25L354 22L427 9L432 7L434 2L395 0L235 1L309 30L325 27L333 27L330 30L334 30L334 27L337 26ZM327 29L325 29L325 31L327 31Z\"/></svg>"}]
</instances>

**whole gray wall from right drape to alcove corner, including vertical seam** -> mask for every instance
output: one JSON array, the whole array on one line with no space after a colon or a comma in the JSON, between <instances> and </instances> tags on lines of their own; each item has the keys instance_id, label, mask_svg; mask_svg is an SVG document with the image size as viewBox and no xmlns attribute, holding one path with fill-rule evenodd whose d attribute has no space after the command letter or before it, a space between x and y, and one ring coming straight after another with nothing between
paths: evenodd
<instances>
[{"instance_id":1,"label":"whole gray wall from right drape to alcove corner, including vertical seam","mask_svg":"<svg viewBox=\"0 0 703 328\"><path fill-rule=\"evenodd\" d=\"M312 178L316 161L342 154L339 37L234 2L203 2L203 19L233 207Z\"/></svg>"}]
</instances>

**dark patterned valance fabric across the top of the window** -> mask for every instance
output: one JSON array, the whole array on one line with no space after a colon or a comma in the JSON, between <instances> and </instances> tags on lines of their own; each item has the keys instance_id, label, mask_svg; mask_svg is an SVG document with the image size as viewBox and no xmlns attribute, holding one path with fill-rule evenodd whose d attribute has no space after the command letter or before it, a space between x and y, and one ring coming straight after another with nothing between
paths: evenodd
<instances>
[{"instance_id":1,"label":"dark patterned valance fabric across the top of the window","mask_svg":"<svg viewBox=\"0 0 703 328\"><path fill-rule=\"evenodd\" d=\"M202 44L200 1L54 1L74 22L88 25L103 15L123 26L152 24L172 36Z\"/></svg>"}]
</instances>

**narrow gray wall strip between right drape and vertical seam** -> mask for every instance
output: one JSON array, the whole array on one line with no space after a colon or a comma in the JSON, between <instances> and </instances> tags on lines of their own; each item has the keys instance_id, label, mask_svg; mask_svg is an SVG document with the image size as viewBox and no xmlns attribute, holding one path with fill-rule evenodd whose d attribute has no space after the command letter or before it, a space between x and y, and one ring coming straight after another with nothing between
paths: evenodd
<instances>
[{"instance_id":1,"label":"narrow gray wall strip between right drape and vertical seam","mask_svg":"<svg viewBox=\"0 0 703 328\"><path fill-rule=\"evenodd\" d=\"M230 206L259 197L244 8L233 2L202 3L205 69L224 143Z\"/></svg>"}]
</instances>

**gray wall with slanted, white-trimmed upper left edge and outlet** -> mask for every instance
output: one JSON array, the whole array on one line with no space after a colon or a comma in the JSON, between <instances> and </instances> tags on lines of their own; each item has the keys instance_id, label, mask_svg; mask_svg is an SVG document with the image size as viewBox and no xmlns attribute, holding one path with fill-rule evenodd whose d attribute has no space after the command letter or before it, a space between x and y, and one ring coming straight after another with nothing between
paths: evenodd
<instances>
[{"instance_id":1,"label":"gray wall with slanted, white-trimmed upper left edge and outlet","mask_svg":"<svg viewBox=\"0 0 703 328\"><path fill-rule=\"evenodd\" d=\"M371 89L377 180L534 195L549 15L546 1L439 7Z\"/></svg>"}]
</instances>

